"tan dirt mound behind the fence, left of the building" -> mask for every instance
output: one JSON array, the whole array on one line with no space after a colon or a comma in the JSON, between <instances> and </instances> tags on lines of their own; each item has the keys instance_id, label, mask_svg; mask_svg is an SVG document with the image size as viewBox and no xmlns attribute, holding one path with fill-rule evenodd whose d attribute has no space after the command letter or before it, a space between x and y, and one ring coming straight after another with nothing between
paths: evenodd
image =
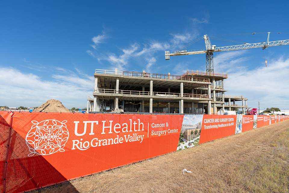
<instances>
[{"instance_id":1,"label":"tan dirt mound behind the fence, left of the building","mask_svg":"<svg viewBox=\"0 0 289 193\"><path fill-rule=\"evenodd\" d=\"M71 112L59 101L50 99L46 103L39 106L33 112Z\"/></svg>"}]
</instances>

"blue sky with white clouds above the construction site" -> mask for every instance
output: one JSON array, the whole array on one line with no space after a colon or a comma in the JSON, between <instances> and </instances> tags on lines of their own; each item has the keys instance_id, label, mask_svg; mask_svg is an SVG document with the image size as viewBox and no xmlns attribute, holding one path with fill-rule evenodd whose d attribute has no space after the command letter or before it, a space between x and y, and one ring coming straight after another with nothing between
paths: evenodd
<instances>
[{"instance_id":1,"label":"blue sky with white clouds above the construction site","mask_svg":"<svg viewBox=\"0 0 289 193\"><path fill-rule=\"evenodd\" d=\"M205 54L173 56L204 36L217 47L289 39L287 1L1 1L0 106L60 100L84 108L95 69L180 75L206 70ZM276 33L279 32L280 34ZM252 34L258 33L258 34ZM200 40L187 49L204 49ZM289 110L289 45L214 53L225 95ZM265 59L267 59L267 67Z\"/></svg>"}]
</instances>

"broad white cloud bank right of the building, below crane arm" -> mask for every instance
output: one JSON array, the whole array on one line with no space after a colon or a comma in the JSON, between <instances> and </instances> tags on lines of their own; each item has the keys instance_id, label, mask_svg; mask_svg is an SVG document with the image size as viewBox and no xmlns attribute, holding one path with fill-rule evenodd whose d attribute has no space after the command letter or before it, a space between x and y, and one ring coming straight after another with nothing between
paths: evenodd
<instances>
[{"instance_id":1,"label":"broad white cloud bank right of the building, below crane arm","mask_svg":"<svg viewBox=\"0 0 289 193\"><path fill-rule=\"evenodd\" d=\"M231 60L236 61L238 57L243 58L241 55L235 55L231 57ZM231 63L230 60L227 62ZM235 68L236 64L239 69ZM266 107L283 108L283 106L287 106L289 108L289 86L287 84L289 82L289 58L270 59L267 67L263 61L253 68L248 68L243 62L232 62L232 66L225 62L218 63L218 65L224 72L230 71L228 79L225 80L225 90L228 90L225 95L247 97L248 106L254 108L257 107L259 101L266 103ZM274 106L276 103L282 105Z\"/></svg>"}]
</instances>

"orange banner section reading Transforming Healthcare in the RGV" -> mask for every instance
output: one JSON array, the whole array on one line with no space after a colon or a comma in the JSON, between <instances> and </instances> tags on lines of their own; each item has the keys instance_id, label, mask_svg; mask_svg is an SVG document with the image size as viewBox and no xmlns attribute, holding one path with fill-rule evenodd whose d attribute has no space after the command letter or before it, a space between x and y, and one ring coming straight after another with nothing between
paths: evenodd
<instances>
[{"instance_id":1,"label":"orange banner section reading Transforming Healthcare in the RGV","mask_svg":"<svg viewBox=\"0 0 289 193\"><path fill-rule=\"evenodd\" d=\"M236 115L204 115L199 144L235 134Z\"/></svg>"}]
</instances>

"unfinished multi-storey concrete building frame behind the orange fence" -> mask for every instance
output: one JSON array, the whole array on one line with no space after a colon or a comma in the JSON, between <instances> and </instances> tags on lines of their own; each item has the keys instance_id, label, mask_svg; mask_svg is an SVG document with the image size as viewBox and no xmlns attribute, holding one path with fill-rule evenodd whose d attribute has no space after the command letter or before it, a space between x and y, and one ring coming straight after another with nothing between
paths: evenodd
<instances>
[{"instance_id":1,"label":"unfinished multi-storey concrete building frame behind the orange fence","mask_svg":"<svg viewBox=\"0 0 289 193\"><path fill-rule=\"evenodd\" d=\"M87 112L217 114L218 109L247 110L247 98L225 96L226 73L187 71L182 75L145 71L95 70L93 96ZM235 101L242 101L242 105ZM246 104L244 104L244 101ZM233 104L232 104L233 103Z\"/></svg>"}]
</instances>

